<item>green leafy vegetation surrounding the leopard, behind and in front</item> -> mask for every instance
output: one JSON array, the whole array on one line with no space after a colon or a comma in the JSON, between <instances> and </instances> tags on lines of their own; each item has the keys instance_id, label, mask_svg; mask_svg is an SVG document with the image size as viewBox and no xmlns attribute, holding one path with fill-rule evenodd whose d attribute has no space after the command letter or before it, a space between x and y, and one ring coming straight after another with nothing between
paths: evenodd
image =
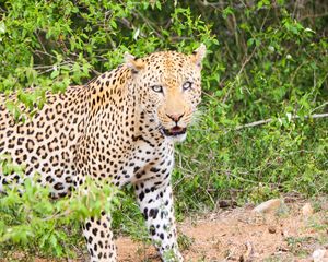
<instances>
[{"instance_id":1,"label":"green leafy vegetation surrounding the leopard, behind and in front","mask_svg":"<svg viewBox=\"0 0 328 262\"><path fill-rule=\"evenodd\" d=\"M121 63L126 51L190 52L204 43L203 102L177 146L181 219L220 200L327 193L327 36L325 0L1 1L0 92L16 90L21 103L42 106L45 91L86 83ZM20 116L16 104L8 107ZM31 190L0 202L0 258L17 248L57 257L83 250L77 214L62 211L79 203L56 204ZM143 239L132 196L119 201L114 227Z\"/></svg>"}]
</instances>

